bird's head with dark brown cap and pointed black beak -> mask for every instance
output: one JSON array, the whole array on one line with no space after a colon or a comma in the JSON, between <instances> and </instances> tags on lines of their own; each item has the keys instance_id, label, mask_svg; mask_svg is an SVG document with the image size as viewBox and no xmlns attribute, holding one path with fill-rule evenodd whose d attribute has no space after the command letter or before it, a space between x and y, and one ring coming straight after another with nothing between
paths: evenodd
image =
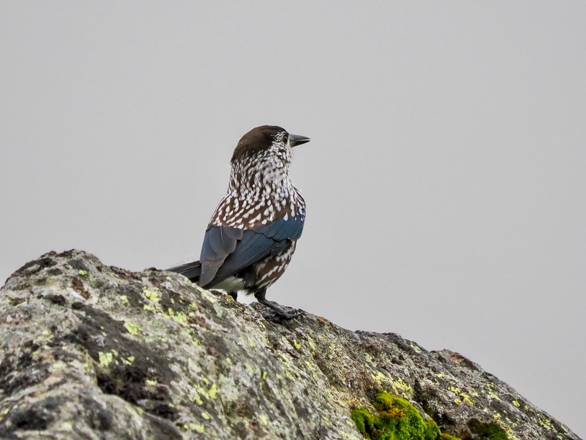
<instances>
[{"instance_id":1,"label":"bird's head with dark brown cap and pointed black beak","mask_svg":"<svg viewBox=\"0 0 586 440\"><path fill-rule=\"evenodd\" d=\"M309 138L289 134L277 126L261 126L248 131L239 141L230 164L232 167L252 167L257 171L275 168L288 170L291 148L309 142ZM259 169L260 167L260 169Z\"/></svg>"}]
</instances>

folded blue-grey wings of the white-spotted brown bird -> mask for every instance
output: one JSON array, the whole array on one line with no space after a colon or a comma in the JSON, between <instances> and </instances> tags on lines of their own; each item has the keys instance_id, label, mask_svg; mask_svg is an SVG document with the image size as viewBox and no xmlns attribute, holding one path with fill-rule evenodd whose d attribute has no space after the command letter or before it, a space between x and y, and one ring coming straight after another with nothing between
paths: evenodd
<instances>
[{"instance_id":1,"label":"folded blue-grey wings of the white-spotted brown bird","mask_svg":"<svg viewBox=\"0 0 586 440\"><path fill-rule=\"evenodd\" d=\"M288 242L301 237L304 219L279 219L254 229L211 226L207 229L202 255L199 285L215 285L268 255L277 255ZM226 231L230 232L227 238ZM218 238L220 232L222 237ZM233 242L235 241L235 243Z\"/></svg>"}]
</instances>

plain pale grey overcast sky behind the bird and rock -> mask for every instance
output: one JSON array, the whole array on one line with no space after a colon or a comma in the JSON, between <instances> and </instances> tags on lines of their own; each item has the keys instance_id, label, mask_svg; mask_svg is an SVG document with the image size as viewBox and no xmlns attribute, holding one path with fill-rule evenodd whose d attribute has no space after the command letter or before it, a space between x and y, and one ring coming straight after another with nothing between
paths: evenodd
<instances>
[{"instance_id":1,"label":"plain pale grey overcast sky behind the bird and rock","mask_svg":"<svg viewBox=\"0 0 586 440\"><path fill-rule=\"evenodd\" d=\"M240 137L312 138L269 299L481 364L586 436L586 3L2 1L0 283L199 258Z\"/></svg>"}]
</instances>

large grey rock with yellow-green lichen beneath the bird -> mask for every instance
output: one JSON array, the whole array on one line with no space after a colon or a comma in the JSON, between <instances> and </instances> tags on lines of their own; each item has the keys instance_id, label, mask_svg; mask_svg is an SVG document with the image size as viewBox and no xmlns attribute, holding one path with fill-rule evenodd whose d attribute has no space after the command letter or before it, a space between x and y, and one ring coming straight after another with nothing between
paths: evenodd
<instances>
[{"instance_id":1,"label":"large grey rock with yellow-green lichen beneath the bird","mask_svg":"<svg viewBox=\"0 0 586 440\"><path fill-rule=\"evenodd\" d=\"M578 439L448 350L306 313L271 323L175 273L50 252L0 289L0 437L362 439L384 390L443 438Z\"/></svg>"}]
</instances>

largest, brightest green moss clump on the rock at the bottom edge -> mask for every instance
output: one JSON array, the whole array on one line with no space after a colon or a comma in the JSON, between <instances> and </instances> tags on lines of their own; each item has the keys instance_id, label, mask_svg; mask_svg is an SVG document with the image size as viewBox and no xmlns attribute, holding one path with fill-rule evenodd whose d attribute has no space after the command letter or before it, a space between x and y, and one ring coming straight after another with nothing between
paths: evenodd
<instances>
[{"instance_id":1,"label":"largest, brightest green moss clump on the rock at the bottom edge","mask_svg":"<svg viewBox=\"0 0 586 440\"><path fill-rule=\"evenodd\" d=\"M440 428L432 419L423 419L413 405L405 399L379 390L373 407L377 414L366 408L352 411L352 420L360 434L369 440L439 440L444 439ZM452 440L453 437L445 437ZM456 439L459 440L459 439ZM492 439L491 439L492 440Z\"/></svg>"}]
</instances>

